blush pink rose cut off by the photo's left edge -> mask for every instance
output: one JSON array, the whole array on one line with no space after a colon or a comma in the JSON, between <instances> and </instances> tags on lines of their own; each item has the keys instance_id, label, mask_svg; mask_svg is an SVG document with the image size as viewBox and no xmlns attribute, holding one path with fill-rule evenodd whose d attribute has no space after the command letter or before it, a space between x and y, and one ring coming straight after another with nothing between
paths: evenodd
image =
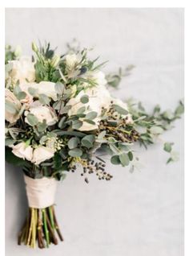
<instances>
[{"instance_id":1,"label":"blush pink rose cut off by the photo's left edge","mask_svg":"<svg viewBox=\"0 0 189 256\"><path fill-rule=\"evenodd\" d=\"M9 112L8 109L6 109L6 114L5 114L6 121L10 123L14 123L20 118L19 110L21 109L22 105L20 101L18 101L17 97L15 97L14 94L10 92L9 89L6 89L5 97L6 97L7 103L9 102L13 103L14 106L16 107L15 113L13 113L12 111Z\"/></svg>"}]
</instances>

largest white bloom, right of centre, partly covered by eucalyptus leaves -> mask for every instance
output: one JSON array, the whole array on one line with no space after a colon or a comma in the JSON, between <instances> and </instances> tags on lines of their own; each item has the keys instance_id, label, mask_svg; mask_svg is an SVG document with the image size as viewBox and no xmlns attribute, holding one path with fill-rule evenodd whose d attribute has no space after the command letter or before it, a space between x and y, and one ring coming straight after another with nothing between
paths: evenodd
<instances>
[{"instance_id":1,"label":"largest white bloom, right of centre, partly covered by eucalyptus leaves","mask_svg":"<svg viewBox=\"0 0 189 256\"><path fill-rule=\"evenodd\" d=\"M80 101L83 95L87 95L89 97L89 101L86 104L82 104ZM68 112L69 116L77 114L78 109L82 106L86 107L85 114L89 113L90 111L94 111L97 113L97 118L94 118L93 122L95 123L90 124L88 122L83 122L82 126L78 128L78 130L95 130L98 128L100 115L102 111L102 107L108 108L111 104L111 95L109 91L106 89L104 85L95 86L85 91L81 91L78 95L74 98L71 98L70 101L67 102L67 105L71 105L71 109ZM82 121L83 118L80 118Z\"/></svg>"}]
</instances>

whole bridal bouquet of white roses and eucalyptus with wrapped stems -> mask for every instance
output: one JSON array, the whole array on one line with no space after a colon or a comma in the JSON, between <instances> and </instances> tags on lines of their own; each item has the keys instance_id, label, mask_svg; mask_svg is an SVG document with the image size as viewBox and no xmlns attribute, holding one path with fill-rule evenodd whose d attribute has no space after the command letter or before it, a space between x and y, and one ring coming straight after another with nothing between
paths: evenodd
<instances>
[{"instance_id":1,"label":"whole bridal bouquet of white roses and eucalyptus with wrapped stems","mask_svg":"<svg viewBox=\"0 0 189 256\"><path fill-rule=\"evenodd\" d=\"M86 183L90 174L111 180L103 152L134 171L135 143L154 143L183 114L183 102L173 112L156 105L147 114L141 103L123 102L107 89L132 66L105 76L87 49L70 47L62 56L49 43L32 49L34 56L24 57L6 47L6 161L22 167L29 203L18 244L45 248L63 240L54 211L58 181L69 171L81 171ZM163 146L168 163L177 159L172 144Z\"/></svg>"}]
</instances>

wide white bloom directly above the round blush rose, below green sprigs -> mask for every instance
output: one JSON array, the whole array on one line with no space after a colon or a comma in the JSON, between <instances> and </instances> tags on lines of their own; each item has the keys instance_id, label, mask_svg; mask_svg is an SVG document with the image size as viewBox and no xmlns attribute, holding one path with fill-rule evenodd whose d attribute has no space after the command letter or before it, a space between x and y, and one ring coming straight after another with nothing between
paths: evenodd
<instances>
[{"instance_id":1,"label":"wide white bloom directly above the round blush rose, below green sprigs","mask_svg":"<svg viewBox=\"0 0 189 256\"><path fill-rule=\"evenodd\" d=\"M36 89L38 94L45 94L47 97L57 101L57 93L55 90L55 83L42 81L40 83L24 83L20 85L20 88L26 93L29 93L29 89Z\"/></svg>"}]
</instances>

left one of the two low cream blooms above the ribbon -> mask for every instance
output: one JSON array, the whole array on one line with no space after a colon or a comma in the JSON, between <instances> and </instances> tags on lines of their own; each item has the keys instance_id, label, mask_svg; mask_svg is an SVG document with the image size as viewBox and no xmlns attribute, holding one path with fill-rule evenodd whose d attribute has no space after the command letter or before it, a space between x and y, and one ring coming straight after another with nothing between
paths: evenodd
<instances>
[{"instance_id":1,"label":"left one of the two low cream blooms above the ribbon","mask_svg":"<svg viewBox=\"0 0 189 256\"><path fill-rule=\"evenodd\" d=\"M26 145L25 142L20 142L15 146L12 146L13 154L18 156L21 159L26 159L28 161L32 160L33 157L33 148Z\"/></svg>"}]
</instances>

